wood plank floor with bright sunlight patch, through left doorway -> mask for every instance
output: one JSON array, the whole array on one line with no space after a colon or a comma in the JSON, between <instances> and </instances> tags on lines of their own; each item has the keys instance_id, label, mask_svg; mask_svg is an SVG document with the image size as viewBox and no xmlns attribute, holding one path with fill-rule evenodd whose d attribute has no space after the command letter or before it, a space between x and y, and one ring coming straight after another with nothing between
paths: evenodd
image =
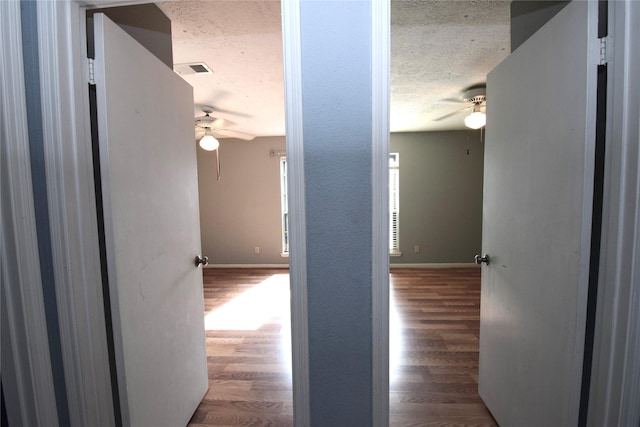
<instances>
[{"instance_id":1,"label":"wood plank floor with bright sunlight patch, through left doorway","mask_svg":"<svg viewBox=\"0 0 640 427\"><path fill-rule=\"evenodd\" d=\"M189 426L291 426L289 271L205 269L209 390Z\"/></svg>"}]
</instances>

